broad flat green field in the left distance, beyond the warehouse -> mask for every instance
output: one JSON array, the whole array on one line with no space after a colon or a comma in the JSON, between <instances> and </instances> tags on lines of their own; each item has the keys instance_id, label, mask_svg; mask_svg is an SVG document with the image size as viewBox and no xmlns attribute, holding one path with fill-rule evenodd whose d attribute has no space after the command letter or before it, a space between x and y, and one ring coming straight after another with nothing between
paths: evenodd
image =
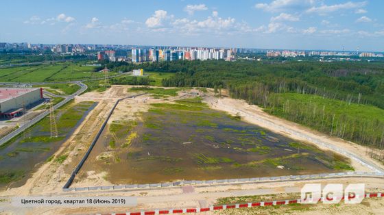
<instances>
[{"instance_id":1,"label":"broad flat green field in the left distance, beyond the warehouse","mask_svg":"<svg viewBox=\"0 0 384 215\"><path fill-rule=\"evenodd\" d=\"M94 72L95 66L81 66L77 64L51 64L38 66L19 66L1 68L0 78L10 82L49 82L73 81L79 79L93 79L104 77L103 73ZM115 73L110 73L115 75Z\"/></svg>"}]
</instances>

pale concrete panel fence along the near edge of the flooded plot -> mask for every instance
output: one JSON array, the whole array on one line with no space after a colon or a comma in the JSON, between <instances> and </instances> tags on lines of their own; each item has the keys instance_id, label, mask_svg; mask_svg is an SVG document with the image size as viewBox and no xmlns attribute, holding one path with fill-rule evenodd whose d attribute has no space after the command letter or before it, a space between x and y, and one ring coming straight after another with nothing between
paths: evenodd
<instances>
[{"instance_id":1,"label":"pale concrete panel fence along the near edge of the flooded plot","mask_svg":"<svg viewBox=\"0 0 384 215\"><path fill-rule=\"evenodd\" d=\"M158 184L125 184L115 186L95 186L85 188L63 188L63 191L87 191L87 190L130 190L130 189L147 189L147 188L169 188L177 186L210 186L210 185L225 185L225 184L246 184L246 183L263 183L268 181L298 181L298 180L311 180L311 179L333 179L344 177L379 177L384 179L384 173L377 172L346 172L346 173L322 173L313 175L283 175L274 177L254 177L242 179L217 179L206 181L195 180L182 180L173 181L170 183Z\"/></svg>"}]
</instances>

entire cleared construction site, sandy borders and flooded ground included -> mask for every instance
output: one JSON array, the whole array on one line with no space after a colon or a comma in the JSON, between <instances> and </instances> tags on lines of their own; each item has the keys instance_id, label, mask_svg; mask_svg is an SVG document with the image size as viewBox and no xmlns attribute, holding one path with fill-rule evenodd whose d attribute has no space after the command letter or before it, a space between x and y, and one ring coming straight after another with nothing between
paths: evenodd
<instances>
[{"instance_id":1,"label":"entire cleared construction site, sandy borders and flooded ground included","mask_svg":"<svg viewBox=\"0 0 384 215\"><path fill-rule=\"evenodd\" d=\"M71 123L62 121L75 112ZM303 180L365 181L368 190L384 189L383 165L361 145L270 116L226 92L218 97L209 88L111 86L77 95L50 113L57 122L34 127L2 152L10 158L1 161L3 168L32 171L3 188L1 196L139 198L136 207L86 209L104 213L176 203L208 207L228 192L290 197ZM54 138L49 149L42 137ZM18 147L26 143L28 149ZM12 166L12 159L21 158L19 167ZM52 210L82 212L60 207L28 212Z\"/></svg>"}]
</instances>

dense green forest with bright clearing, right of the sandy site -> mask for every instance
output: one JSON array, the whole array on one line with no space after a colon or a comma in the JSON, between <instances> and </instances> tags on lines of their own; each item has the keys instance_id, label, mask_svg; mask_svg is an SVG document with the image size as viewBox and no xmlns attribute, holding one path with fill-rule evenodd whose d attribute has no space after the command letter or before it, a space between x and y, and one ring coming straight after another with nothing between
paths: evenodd
<instances>
[{"instance_id":1,"label":"dense green forest with bright clearing, right of the sandy site","mask_svg":"<svg viewBox=\"0 0 384 215\"><path fill-rule=\"evenodd\" d=\"M228 90L230 97L276 116L383 149L384 63L207 60L123 64L115 69L138 67L174 73L163 79L163 86Z\"/></svg>"}]
</instances>

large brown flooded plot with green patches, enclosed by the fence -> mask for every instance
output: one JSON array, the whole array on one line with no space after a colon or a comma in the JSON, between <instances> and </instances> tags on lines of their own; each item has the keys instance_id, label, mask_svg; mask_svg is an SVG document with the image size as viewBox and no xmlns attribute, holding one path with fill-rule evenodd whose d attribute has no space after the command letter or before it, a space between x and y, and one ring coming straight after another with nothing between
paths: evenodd
<instances>
[{"instance_id":1,"label":"large brown flooded plot with green patches, enclosed by the fence","mask_svg":"<svg viewBox=\"0 0 384 215\"><path fill-rule=\"evenodd\" d=\"M107 128L80 171L80 180L89 170L108 173L112 184L304 175L341 171L333 164L345 161L208 108L159 108L142 118L129 132L137 137L128 147L121 147L128 134L112 137ZM110 147L112 139L115 148Z\"/></svg>"}]
</instances>

